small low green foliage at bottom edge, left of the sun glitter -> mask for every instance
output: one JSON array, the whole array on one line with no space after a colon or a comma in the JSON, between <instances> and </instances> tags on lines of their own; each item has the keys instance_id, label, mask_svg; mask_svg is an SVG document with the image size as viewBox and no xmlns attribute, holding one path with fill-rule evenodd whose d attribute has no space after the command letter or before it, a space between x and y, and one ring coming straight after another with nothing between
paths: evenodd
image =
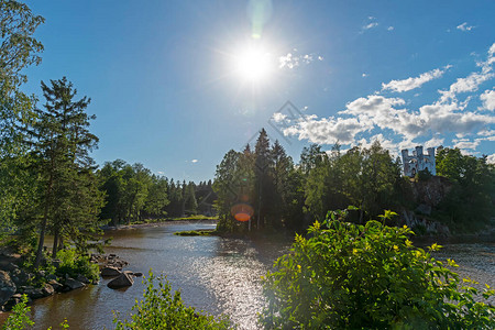
<instances>
[{"instance_id":1,"label":"small low green foliage at bottom edge, left of the sun glitter","mask_svg":"<svg viewBox=\"0 0 495 330\"><path fill-rule=\"evenodd\" d=\"M158 282L158 287L155 280ZM172 294L170 284L165 277L155 277L150 271L145 284L143 300L136 301L132 308L135 314L131 316L131 320L119 320L118 315L114 316L113 323L117 324L117 330L230 328L229 319L224 316L216 319L185 306L179 292Z\"/></svg>"}]
</instances>

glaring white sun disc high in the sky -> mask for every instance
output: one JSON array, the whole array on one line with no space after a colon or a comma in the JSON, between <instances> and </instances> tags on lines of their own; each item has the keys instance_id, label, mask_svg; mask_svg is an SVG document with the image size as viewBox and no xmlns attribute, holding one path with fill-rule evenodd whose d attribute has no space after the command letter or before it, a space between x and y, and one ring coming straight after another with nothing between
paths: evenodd
<instances>
[{"instance_id":1,"label":"glaring white sun disc high in the sky","mask_svg":"<svg viewBox=\"0 0 495 330\"><path fill-rule=\"evenodd\" d=\"M234 56L234 72L248 81L261 82L268 79L273 68L271 54L261 46L250 45Z\"/></svg>"}]
</instances>

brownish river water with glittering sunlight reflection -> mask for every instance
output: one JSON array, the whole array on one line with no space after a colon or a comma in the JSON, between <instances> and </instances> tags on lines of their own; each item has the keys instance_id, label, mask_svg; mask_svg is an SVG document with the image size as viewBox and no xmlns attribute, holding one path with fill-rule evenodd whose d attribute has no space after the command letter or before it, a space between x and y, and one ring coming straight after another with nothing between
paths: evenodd
<instances>
[{"instance_id":1,"label":"brownish river water with glittering sunlight reflection","mask_svg":"<svg viewBox=\"0 0 495 330\"><path fill-rule=\"evenodd\" d=\"M257 329L256 314L263 308L260 277L273 261L284 254L290 242L248 241L218 237L177 237L176 231L212 229L215 223L164 223L112 231L107 253L127 260L127 270L165 274L173 289L180 289L187 305L213 315L229 315L240 329ZM462 276L471 276L495 287L495 244L450 244L437 255L461 265ZM121 290L107 287L109 279L67 294L35 300L31 318L35 329L57 329L67 318L70 329L112 329L112 311L129 315L144 285ZM495 301L492 301L495 304Z\"/></svg>"}]
</instances>

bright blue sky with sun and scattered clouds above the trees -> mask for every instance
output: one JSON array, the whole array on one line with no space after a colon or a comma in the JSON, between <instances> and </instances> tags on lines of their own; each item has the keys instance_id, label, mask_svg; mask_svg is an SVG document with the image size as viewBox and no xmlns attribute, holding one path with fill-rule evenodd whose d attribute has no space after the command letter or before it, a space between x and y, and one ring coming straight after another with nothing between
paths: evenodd
<instances>
[{"instance_id":1,"label":"bright blue sky with sun and scattered clouds above the trees","mask_svg":"<svg viewBox=\"0 0 495 330\"><path fill-rule=\"evenodd\" d=\"M98 164L208 180L265 128L304 146L380 140L495 162L495 1L26 1L46 21L28 92L88 96Z\"/></svg>"}]
</instances>

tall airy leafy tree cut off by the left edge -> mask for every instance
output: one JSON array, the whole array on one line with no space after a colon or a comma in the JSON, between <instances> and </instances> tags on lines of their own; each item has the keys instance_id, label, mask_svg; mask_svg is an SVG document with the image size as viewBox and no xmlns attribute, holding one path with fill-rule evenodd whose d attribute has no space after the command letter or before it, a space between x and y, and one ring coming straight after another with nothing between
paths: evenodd
<instances>
[{"instance_id":1,"label":"tall airy leafy tree cut off by the left edge","mask_svg":"<svg viewBox=\"0 0 495 330\"><path fill-rule=\"evenodd\" d=\"M43 22L28 6L0 0L0 237L19 228L15 220L31 218L36 202L36 177L26 169L31 161L20 130L32 120L36 99L21 87L28 80L22 70L41 62L43 45L33 34Z\"/></svg>"}]
</instances>

